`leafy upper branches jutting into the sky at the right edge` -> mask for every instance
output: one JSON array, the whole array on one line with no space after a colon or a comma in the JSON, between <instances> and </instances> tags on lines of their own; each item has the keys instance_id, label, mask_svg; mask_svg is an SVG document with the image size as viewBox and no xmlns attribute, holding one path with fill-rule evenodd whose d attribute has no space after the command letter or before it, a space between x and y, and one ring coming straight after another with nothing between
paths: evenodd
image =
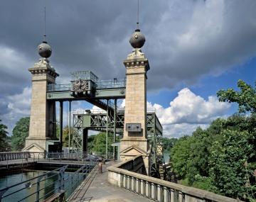
<instances>
[{"instance_id":1,"label":"leafy upper branches jutting into the sky at the right edge","mask_svg":"<svg viewBox=\"0 0 256 202\"><path fill-rule=\"evenodd\" d=\"M240 91L234 89L220 90L217 92L219 101L228 101L229 103L238 103L239 111L256 112L256 89L242 80L238 80Z\"/></svg>"}]
</instances>

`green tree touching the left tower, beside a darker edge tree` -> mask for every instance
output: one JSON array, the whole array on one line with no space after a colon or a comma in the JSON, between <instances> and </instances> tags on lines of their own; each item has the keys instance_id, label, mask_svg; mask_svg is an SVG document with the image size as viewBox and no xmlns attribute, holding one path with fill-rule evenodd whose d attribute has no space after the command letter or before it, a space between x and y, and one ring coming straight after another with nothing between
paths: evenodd
<instances>
[{"instance_id":1,"label":"green tree touching the left tower, beside a darker edge tree","mask_svg":"<svg viewBox=\"0 0 256 202\"><path fill-rule=\"evenodd\" d=\"M11 136L11 148L20 151L25 147L25 140L29 133L29 117L23 117L16 123Z\"/></svg>"}]
</instances>

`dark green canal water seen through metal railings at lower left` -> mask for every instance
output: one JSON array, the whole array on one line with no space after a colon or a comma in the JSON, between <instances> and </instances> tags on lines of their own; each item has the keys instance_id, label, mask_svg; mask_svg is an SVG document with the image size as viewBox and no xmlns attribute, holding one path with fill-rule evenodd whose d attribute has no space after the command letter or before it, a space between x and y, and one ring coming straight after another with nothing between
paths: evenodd
<instances>
[{"instance_id":1,"label":"dark green canal water seen through metal railings at lower left","mask_svg":"<svg viewBox=\"0 0 256 202\"><path fill-rule=\"evenodd\" d=\"M26 181L28 179L32 179L33 177L36 177L45 173L46 171L23 170L23 172L18 174L9 174L8 176L0 176L0 189L3 189L6 186L18 184L21 181ZM51 176L46 176L46 180L42 181L40 184L40 189L42 189L40 191L40 198L42 197L42 201L43 199L48 198L51 194L58 192L58 187L59 187L58 173L56 173L54 176L52 175L54 174L51 174ZM78 186L78 183L74 185L74 184L71 184L70 180L68 180L71 178L72 175L73 175L72 172L65 172L66 198L68 198L68 196L70 196L70 194L75 190L76 186ZM82 181L82 179L83 177L80 176L80 181ZM33 183L36 183L36 180L31 181L31 184ZM25 184L21 184L19 186L11 188L8 191L6 191L4 196L8 195L11 192L17 191L18 189L25 188L25 186L26 186ZM6 198L3 198L1 202L20 201L22 198L25 198L26 196L34 193L35 191L36 191L36 184L31 186L30 188L28 187L28 189L23 189L21 191L18 191L17 193L11 194L11 196L7 196ZM46 196L47 193L50 193L50 194ZM26 198L23 201L28 201L28 202L36 201L36 194L33 194L32 196L30 196L29 198Z\"/></svg>"}]
</instances>

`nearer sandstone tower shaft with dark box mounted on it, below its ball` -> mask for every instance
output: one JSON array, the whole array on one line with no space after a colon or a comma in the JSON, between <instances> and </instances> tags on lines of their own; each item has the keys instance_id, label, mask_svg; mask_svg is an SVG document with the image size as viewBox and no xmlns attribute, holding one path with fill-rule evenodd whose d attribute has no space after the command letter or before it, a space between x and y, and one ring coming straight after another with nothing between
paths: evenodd
<instances>
[{"instance_id":1,"label":"nearer sandstone tower shaft with dark box mounted on it, below its ball","mask_svg":"<svg viewBox=\"0 0 256 202\"><path fill-rule=\"evenodd\" d=\"M122 161L142 155L147 172L149 171L149 141L146 136L146 71L149 62L140 49L135 49L124 60L127 69L127 84L124 111L124 136L120 145ZM129 131L127 124L141 126L139 132Z\"/></svg>"}]
</instances>

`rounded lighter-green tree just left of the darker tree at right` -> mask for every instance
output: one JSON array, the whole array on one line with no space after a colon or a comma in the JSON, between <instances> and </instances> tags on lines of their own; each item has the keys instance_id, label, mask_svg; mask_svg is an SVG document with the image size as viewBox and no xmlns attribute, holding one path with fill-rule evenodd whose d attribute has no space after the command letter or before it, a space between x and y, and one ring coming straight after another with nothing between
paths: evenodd
<instances>
[{"instance_id":1,"label":"rounded lighter-green tree just left of the darker tree at right","mask_svg":"<svg viewBox=\"0 0 256 202\"><path fill-rule=\"evenodd\" d=\"M209 155L212 143L220 138L223 119L214 120L206 130L197 128L191 137L180 139L171 149L171 163L178 176L188 178L188 184L196 181L196 176L209 176ZM182 174L181 174L182 171ZM198 178L199 179L199 178Z\"/></svg>"}]
</instances>

